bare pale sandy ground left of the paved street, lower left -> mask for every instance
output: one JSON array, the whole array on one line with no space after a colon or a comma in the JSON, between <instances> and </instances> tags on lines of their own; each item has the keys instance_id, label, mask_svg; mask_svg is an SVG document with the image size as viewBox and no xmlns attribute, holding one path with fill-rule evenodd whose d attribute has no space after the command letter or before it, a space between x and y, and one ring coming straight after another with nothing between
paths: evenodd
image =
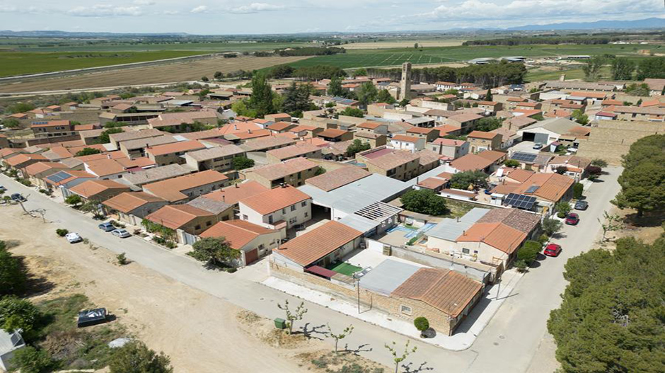
<instances>
[{"instance_id":1,"label":"bare pale sandy ground left of the paved street, lower left","mask_svg":"<svg viewBox=\"0 0 665 373\"><path fill-rule=\"evenodd\" d=\"M18 240L11 251L25 257L30 272L52 282L37 299L86 294L150 348L166 352L175 372L306 372L293 358L296 352L328 348L318 340L303 341L297 351L274 348L248 332L254 326L236 321L242 310L222 299L137 263L119 266L104 248L70 245L57 238L54 224L25 216L21 207L0 207L0 215L0 239Z\"/></svg>"}]
</instances>

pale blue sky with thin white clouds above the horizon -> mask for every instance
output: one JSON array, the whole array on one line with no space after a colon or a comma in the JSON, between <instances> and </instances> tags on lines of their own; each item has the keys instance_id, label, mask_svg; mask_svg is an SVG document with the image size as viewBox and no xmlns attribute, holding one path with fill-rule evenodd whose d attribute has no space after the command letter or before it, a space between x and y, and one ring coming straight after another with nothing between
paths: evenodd
<instances>
[{"instance_id":1,"label":"pale blue sky with thin white clouds above the horizon","mask_svg":"<svg viewBox=\"0 0 665 373\"><path fill-rule=\"evenodd\" d=\"M664 17L663 0L0 0L2 30L362 33Z\"/></svg>"}]
</instances>

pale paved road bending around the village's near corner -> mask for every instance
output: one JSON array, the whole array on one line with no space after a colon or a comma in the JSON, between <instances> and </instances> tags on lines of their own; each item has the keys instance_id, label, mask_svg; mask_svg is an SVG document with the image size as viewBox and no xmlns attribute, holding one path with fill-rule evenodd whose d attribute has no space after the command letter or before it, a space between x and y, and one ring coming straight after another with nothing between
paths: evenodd
<instances>
[{"instance_id":1,"label":"pale paved road bending around the village's near corner","mask_svg":"<svg viewBox=\"0 0 665 373\"><path fill-rule=\"evenodd\" d=\"M563 265L568 258L591 248L600 229L596 217L609 209L609 200L618 191L616 178L620 168L608 168L608 171L609 175L603 177L604 181L594 183L587 192L589 210L581 212L579 225L565 226L562 237L555 240L563 247L562 254L558 258L543 260L539 268L533 268L523 277L511 297L480 333L474 345L465 351L451 352L416 342L418 352L413 356L411 372L422 363L425 363L425 368L432 368L429 372L526 372L532 364L538 364L532 362L533 355L540 341L547 335L545 323L549 311L560 303L559 294L566 285L562 277ZM9 193L30 194L25 207L28 210L45 208L46 218L56 224L54 228L77 231L97 246L109 248L116 253L125 252L129 259L215 297L270 318L280 315L277 302L291 299L287 294L244 277L204 270L190 258L176 256L137 237L117 239L97 229L96 222L79 212L59 205L4 175L0 176L0 180ZM291 301L298 302L295 299ZM194 313L195 310L192 309L192 314ZM391 356L383 348L383 344L393 340L405 340L402 335L371 326L317 304L308 304L305 321L310 323L309 328L330 323L333 329L340 329L353 324L354 333L344 342L349 343L349 348L363 346L359 348L363 355L388 366L391 365Z\"/></svg>"}]
</instances>

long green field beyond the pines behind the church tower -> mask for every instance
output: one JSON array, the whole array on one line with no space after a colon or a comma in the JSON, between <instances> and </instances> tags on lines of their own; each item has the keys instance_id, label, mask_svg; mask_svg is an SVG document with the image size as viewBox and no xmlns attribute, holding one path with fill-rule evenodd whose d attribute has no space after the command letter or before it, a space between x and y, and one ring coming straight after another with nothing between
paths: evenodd
<instances>
[{"instance_id":1,"label":"long green field beyond the pines behind the church tower","mask_svg":"<svg viewBox=\"0 0 665 373\"><path fill-rule=\"evenodd\" d=\"M652 46L653 47L653 46ZM642 47L637 45L472 45L460 47L432 47L385 50L349 50L345 54L317 56L291 64L293 67L327 64L353 69L357 67L398 66L403 62L412 64L444 64L465 62L480 57L557 57L569 54L616 54L643 58L637 54Z\"/></svg>"}]
</instances>

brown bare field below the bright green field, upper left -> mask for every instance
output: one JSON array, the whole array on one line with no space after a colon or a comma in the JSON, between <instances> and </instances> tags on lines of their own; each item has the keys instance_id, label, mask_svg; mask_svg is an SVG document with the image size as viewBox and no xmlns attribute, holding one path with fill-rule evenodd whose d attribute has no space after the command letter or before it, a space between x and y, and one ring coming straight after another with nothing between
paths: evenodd
<instances>
[{"instance_id":1,"label":"brown bare field below the bright green field, upper left","mask_svg":"<svg viewBox=\"0 0 665 373\"><path fill-rule=\"evenodd\" d=\"M42 92L76 88L127 86L132 84L158 84L175 81L192 81L201 76L212 78L215 71L229 73L238 70L254 70L277 64L287 64L307 57L217 57L190 62L175 62L149 67L100 71L90 74L52 79L1 84L0 93Z\"/></svg>"}]
</instances>

